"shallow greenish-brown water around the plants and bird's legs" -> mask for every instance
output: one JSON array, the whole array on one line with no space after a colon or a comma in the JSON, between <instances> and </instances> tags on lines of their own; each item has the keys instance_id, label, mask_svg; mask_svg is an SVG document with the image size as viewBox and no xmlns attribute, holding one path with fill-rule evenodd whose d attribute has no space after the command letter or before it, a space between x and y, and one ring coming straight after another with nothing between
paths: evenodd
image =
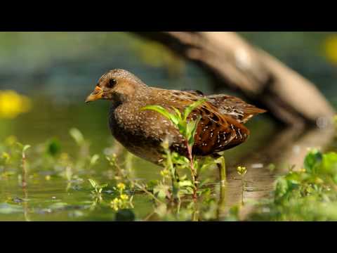
<instances>
[{"instance_id":1,"label":"shallow greenish-brown water around the plants and bird's legs","mask_svg":"<svg viewBox=\"0 0 337 253\"><path fill-rule=\"evenodd\" d=\"M56 137L62 145L62 152L75 156L77 146L70 138L69 129L77 127L82 131L86 140L91 143L91 155L102 154L106 147L113 145L107 127L107 103L96 103L92 106L81 104L57 105L48 99L34 100L34 109L25 115L3 122L1 138L10 134L18 137L24 144L36 147L39 143ZM268 164L275 162L259 154L257 150L263 143L267 143L270 136L275 134L277 127L267 117L256 117L249 123L251 138L243 145L228 150L225 153L227 166L227 183L225 188L220 187L217 169L209 169L201 175L209 179L209 186L221 206L221 214L226 214L229 207L242 201L242 181L235 171L237 165L246 166L244 202L266 197L272 190L275 173L270 172ZM249 160L255 154L255 159ZM27 164L32 161L27 157ZM134 177L141 181L160 178L160 168L133 157L132 167ZM81 221L81 220L108 220L116 219L116 212L110 207L110 202L116 197L112 190L115 181L111 178L111 168L107 163L98 167L83 169L78 172L80 179L67 182L43 165L34 171L29 171L27 188L20 186L21 168L12 168L12 175L0 177L0 220L2 221ZM4 171L2 171L4 172ZM91 194L91 186L87 179L95 179L100 183L108 183L103 190L102 200ZM221 193L222 191L222 193ZM220 194L221 193L221 194ZM133 198L133 212L136 220L160 220L153 212L154 202L144 194L136 194ZM199 204L203 207L202 202ZM150 216L149 216L150 215Z\"/></svg>"}]
</instances>

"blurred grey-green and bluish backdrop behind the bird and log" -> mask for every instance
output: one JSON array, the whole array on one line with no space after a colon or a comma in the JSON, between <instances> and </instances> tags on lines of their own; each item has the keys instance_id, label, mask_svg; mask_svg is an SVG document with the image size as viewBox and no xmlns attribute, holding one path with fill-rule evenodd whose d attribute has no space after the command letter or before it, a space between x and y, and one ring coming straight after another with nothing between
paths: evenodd
<instances>
[{"instance_id":1,"label":"blurred grey-green and bluish backdrop behind the bird and log","mask_svg":"<svg viewBox=\"0 0 337 253\"><path fill-rule=\"evenodd\" d=\"M329 95L336 79L333 32L240 32ZM86 95L103 72L125 68L145 82L207 90L199 68L157 42L127 32L1 32L0 87L64 103ZM335 98L331 97L335 102Z\"/></svg>"}]
</instances>

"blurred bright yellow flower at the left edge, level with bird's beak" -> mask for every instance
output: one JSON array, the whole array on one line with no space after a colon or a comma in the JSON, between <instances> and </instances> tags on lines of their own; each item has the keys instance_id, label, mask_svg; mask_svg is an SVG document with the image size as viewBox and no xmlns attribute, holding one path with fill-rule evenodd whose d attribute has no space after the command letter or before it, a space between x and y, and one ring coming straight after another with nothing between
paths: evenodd
<instances>
[{"instance_id":1,"label":"blurred bright yellow flower at the left edge, level with bird's beak","mask_svg":"<svg viewBox=\"0 0 337 253\"><path fill-rule=\"evenodd\" d=\"M32 103L26 96L15 91L0 91L0 117L13 119L23 112L28 112Z\"/></svg>"}]
</instances>

